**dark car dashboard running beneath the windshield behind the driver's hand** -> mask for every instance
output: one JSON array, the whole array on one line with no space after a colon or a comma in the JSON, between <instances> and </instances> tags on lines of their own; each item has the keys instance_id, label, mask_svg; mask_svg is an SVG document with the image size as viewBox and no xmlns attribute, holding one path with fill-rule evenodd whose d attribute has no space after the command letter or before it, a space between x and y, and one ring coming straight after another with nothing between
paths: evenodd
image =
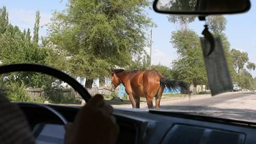
<instances>
[{"instance_id":1,"label":"dark car dashboard running beneath the windshield behind the driver's hand","mask_svg":"<svg viewBox=\"0 0 256 144\"><path fill-rule=\"evenodd\" d=\"M61 121L40 107L23 107L37 144L63 144ZM48 105L72 122L80 107ZM114 109L116 144L256 144L256 123L210 118L188 112Z\"/></svg>"}]
</instances>

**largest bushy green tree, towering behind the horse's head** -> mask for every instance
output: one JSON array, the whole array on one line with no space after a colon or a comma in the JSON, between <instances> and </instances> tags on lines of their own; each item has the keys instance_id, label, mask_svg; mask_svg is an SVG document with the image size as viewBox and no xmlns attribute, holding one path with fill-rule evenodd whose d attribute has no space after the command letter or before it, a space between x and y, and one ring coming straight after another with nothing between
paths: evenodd
<instances>
[{"instance_id":1,"label":"largest bushy green tree, towering behind the horse's head","mask_svg":"<svg viewBox=\"0 0 256 144\"><path fill-rule=\"evenodd\" d=\"M145 30L155 26L149 6L147 0L68 0L66 10L54 12L46 39L69 53L71 74L86 76L91 88L94 78L110 75L111 65L127 66L143 51Z\"/></svg>"}]
</instances>

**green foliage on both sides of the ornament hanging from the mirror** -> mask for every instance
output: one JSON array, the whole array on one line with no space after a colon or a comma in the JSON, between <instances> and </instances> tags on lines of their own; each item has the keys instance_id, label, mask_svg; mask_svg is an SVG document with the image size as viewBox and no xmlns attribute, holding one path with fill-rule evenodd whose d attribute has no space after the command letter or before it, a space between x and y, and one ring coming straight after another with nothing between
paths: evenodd
<instances>
[{"instance_id":1,"label":"green foliage on both sides of the ornament hanging from the mirror","mask_svg":"<svg viewBox=\"0 0 256 144\"><path fill-rule=\"evenodd\" d=\"M176 17L176 20L178 19L181 19L181 17ZM173 21L171 22L173 23ZM180 24L181 26L183 25L182 22ZM241 88L253 88L253 77L245 69L245 66L248 70L255 70L256 64L249 61L247 52L230 49L230 42L224 33L227 19L224 16L209 16L207 17L207 24L209 25L209 31L213 35L221 37L232 81L238 82ZM173 77L194 86L207 84L199 36L195 31L186 27L172 32L171 43L178 54L178 58L172 63Z\"/></svg>"}]
</instances>

